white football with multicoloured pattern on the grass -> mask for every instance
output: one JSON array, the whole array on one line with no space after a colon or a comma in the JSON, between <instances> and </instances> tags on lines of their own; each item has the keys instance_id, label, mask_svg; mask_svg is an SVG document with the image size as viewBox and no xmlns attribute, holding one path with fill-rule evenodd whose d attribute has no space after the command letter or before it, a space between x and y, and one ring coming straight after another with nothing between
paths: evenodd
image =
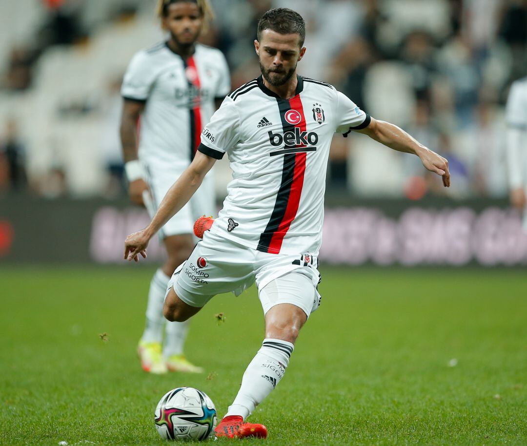
<instances>
[{"instance_id":1,"label":"white football with multicoloured pattern on the grass","mask_svg":"<svg viewBox=\"0 0 527 446\"><path fill-rule=\"evenodd\" d=\"M165 393L154 413L155 429L164 440L206 440L217 421L212 400L192 387Z\"/></svg>"}]
</instances>

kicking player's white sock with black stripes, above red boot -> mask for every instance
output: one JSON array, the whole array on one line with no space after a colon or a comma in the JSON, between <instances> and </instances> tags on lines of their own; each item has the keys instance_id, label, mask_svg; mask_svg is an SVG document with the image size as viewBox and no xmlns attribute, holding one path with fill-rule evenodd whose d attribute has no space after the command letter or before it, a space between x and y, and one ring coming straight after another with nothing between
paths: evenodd
<instances>
[{"instance_id":1,"label":"kicking player's white sock with black stripes, above red boot","mask_svg":"<svg viewBox=\"0 0 527 446\"><path fill-rule=\"evenodd\" d=\"M241 381L241 387L226 417L240 415L245 420L284 376L294 345L280 339L264 339Z\"/></svg>"}]
</instances>

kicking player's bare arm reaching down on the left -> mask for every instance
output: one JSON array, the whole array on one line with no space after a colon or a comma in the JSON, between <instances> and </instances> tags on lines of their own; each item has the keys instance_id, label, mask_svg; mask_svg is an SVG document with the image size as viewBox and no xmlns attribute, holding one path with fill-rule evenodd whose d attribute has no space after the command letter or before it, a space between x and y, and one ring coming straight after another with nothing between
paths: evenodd
<instances>
[{"instance_id":1,"label":"kicking player's bare arm reaching down on the left","mask_svg":"<svg viewBox=\"0 0 527 446\"><path fill-rule=\"evenodd\" d=\"M124 259L139 260L139 254L146 257L148 242L171 217L187 204L190 197L198 190L203 178L216 162L216 158L197 152L189 167L170 187L159 205L150 224L142 231L134 232L124 242Z\"/></svg>"}]
</instances>

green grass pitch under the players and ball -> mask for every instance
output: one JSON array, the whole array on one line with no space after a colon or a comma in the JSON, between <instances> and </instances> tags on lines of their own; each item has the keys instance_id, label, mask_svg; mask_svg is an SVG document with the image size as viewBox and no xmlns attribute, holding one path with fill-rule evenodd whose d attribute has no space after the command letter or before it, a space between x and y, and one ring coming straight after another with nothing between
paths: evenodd
<instances>
[{"instance_id":1,"label":"green grass pitch under the players and ball","mask_svg":"<svg viewBox=\"0 0 527 446\"><path fill-rule=\"evenodd\" d=\"M269 430L253 443L527 444L524 271L321 272L322 305L252 415ZM178 386L225 413L263 337L255 288L194 319L187 355L206 373L154 376L135 354L152 273L2 267L1 444L164 444L153 410Z\"/></svg>"}]
</instances>

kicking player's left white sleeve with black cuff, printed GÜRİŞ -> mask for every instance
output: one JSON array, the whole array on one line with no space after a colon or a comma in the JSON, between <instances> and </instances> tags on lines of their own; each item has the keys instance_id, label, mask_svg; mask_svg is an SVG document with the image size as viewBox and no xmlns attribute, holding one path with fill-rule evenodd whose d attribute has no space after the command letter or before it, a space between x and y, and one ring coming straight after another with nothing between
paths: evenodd
<instances>
[{"instance_id":1,"label":"kicking player's left white sleeve with black cuff, printed G\u00dcR\u0130\u015e","mask_svg":"<svg viewBox=\"0 0 527 446\"><path fill-rule=\"evenodd\" d=\"M223 100L220 108L201 132L198 150L212 158L221 160L226 152L239 141L240 117L230 97Z\"/></svg>"}]
</instances>

